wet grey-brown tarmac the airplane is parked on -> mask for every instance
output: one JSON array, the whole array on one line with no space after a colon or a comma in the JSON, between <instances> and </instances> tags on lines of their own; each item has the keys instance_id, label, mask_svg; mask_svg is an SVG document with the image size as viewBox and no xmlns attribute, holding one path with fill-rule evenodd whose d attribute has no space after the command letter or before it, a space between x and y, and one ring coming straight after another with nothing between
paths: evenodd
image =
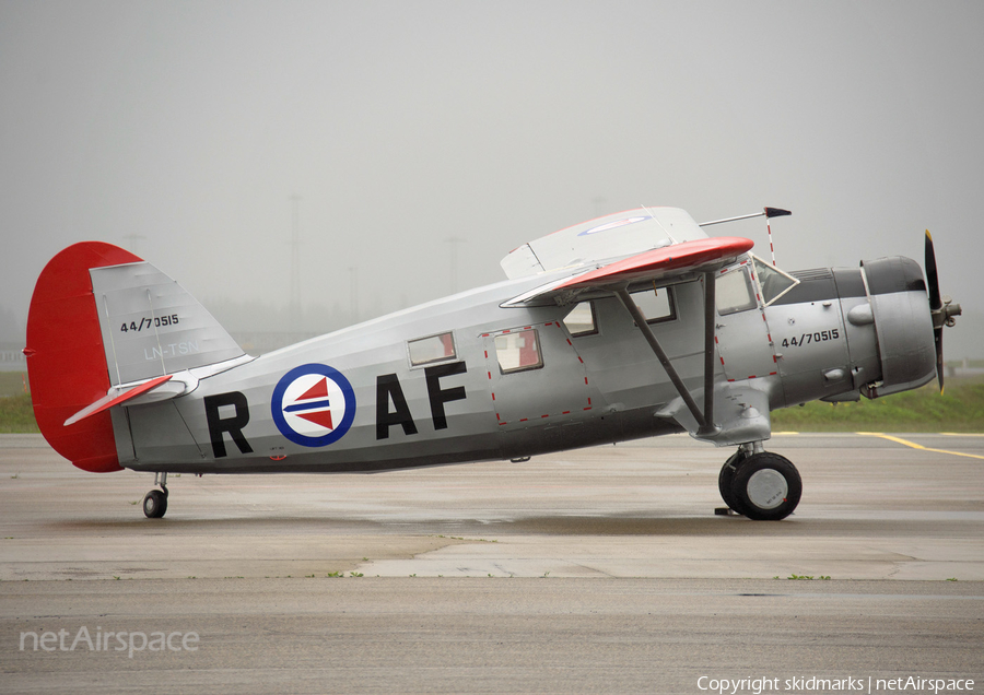
<instances>
[{"instance_id":1,"label":"wet grey-brown tarmac the airplane is parked on","mask_svg":"<svg viewBox=\"0 0 984 695\"><path fill-rule=\"evenodd\" d=\"M730 451L686 435L172 475L149 520L151 475L0 435L0 693L984 692L984 436L768 448L780 522L715 516Z\"/></svg>"}]
</instances>

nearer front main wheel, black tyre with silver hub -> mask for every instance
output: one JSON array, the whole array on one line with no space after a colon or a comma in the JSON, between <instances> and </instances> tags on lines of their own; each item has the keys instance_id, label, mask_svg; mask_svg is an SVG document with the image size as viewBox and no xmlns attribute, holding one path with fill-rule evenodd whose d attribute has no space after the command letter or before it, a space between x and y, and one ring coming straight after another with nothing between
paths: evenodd
<instances>
[{"instance_id":1,"label":"nearer front main wheel, black tyre with silver hub","mask_svg":"<svg viewBox=\"0 0 984 695\"><path fill-rule=\"evenodd\" d=\"M777 521L793 514L803 494L799 471L789 459L762 451L748 457L731 480L736 511L757 521Z\"/></svg>"}]
</instances>

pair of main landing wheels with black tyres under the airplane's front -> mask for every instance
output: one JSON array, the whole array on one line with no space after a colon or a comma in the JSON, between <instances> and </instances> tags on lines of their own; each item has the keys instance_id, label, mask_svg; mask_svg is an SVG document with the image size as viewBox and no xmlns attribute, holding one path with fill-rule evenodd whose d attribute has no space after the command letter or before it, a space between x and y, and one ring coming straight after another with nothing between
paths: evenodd
<instances>
[{"instance_id":1,"label":"pair of main landing wheels with black tyres under the airplane's front","mask_svg":"<svg viewBox=\"0 0 984 695\"><path fill-rule=\"evenodd\" d=\"M754 443L741 445L725 462L717 488L728 509L757 521L777 521L796 509L803 481L789 459Z\"/></svg>"}]
</instances>

